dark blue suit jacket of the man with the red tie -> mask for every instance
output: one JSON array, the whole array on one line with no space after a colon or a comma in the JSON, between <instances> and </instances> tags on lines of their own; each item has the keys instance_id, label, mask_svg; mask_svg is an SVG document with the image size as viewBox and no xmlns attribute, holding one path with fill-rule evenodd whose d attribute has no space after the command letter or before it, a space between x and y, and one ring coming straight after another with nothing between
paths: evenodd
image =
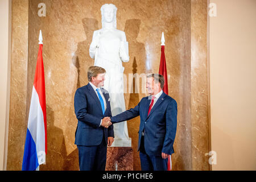
<instances>
[{"instance_id":1,"label":"dark blue suit jacket of the man with the red tie","mask_svg":"<svg viewBox=\"0 0 256 182\"><path fill-rule=\"evenodd\" d=\"M141 117L139 126L139 146L141 145L142 131L144 130L144 147L147 155L161 156L174 153L174 139L177 127L177 103L164 92L152 107L150 114L150 97L144 97L137 106L126 110L121 114L111 117L112 123L118 123L137 117Z\"/></svg>"}]
</instances>

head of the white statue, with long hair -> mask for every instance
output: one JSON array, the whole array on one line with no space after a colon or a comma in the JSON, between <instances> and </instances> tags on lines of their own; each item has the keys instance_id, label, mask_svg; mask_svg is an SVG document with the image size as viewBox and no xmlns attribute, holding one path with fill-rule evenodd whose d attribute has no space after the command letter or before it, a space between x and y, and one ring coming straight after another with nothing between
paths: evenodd
<instances>
[{"instance_id":1,"label":"head of the white statue, with long hair","mask_svg":"<svg viewBox=\"0 0 256 182\"><path fill-rule=\"evenodd\" d=\"M105 4L101 6L101 23L102 28L105 23L113 22L113 26L117 28L117 7L113 4Z\"/></svg>"}]
</instances>

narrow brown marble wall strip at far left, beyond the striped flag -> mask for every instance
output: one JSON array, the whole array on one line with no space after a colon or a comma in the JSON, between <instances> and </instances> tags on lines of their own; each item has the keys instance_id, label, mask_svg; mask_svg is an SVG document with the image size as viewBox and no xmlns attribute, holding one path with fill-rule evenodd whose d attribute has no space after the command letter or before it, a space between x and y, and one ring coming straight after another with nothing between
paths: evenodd
<instances>
[{"instance_id":1,"label":"narrow brown marble wall strip at far left, beyond the striped flag","mask_svg":"<svg viewBox=\"0 0 256 182\"><path fill-rule=\"evenodd\" d=\"M27 121L28 0L12 1L7 170L22 169Z\"/></svg>"}]
</instances>

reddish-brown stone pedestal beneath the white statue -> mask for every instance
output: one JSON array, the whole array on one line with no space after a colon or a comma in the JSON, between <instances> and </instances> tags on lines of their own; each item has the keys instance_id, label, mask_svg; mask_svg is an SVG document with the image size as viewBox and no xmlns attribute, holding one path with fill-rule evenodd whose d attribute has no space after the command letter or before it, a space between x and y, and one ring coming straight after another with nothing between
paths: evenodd
<instances>
[{"instance_id":1,"label":"reddish-brown stone pedestal beneath the white statue","mask_svg":"<svg viewBox=\"0 0 256 182\"><path fill-rule=\"evenodd\" d=\"M133 171L133 148L108 147L106 171Z\"/></svg>"}]
</instances>

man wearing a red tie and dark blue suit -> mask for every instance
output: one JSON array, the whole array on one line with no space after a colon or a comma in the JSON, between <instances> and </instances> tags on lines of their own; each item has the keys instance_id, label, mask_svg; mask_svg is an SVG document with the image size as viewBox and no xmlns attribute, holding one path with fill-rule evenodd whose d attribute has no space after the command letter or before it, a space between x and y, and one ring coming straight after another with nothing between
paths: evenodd
<instances>
[{"instance_id":1,"label":"man wearing a red tie and dark blue suit","mask_svg":"<svg viewBox=\"0 0 256 182\"><path fill-rule=\"evenodd\" d=\"M137 106L110 117L112 123L141 117L138 151L143 171L166 171L168 155L174 153L177 127L177 103L163 92L164 77L147 76L146 88L150 96Z\"/></svg>"}]
</instances>

